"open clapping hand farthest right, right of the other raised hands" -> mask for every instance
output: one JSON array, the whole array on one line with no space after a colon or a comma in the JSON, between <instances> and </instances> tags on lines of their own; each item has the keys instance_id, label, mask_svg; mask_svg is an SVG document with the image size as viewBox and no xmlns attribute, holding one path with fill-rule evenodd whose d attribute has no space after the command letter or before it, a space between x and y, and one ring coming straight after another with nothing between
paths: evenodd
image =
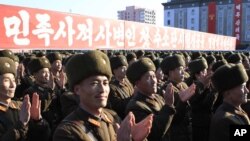
<instances>
[{"instance_id":1,"label":"open clapping hand farthest right, right of the other raised hands","mask_svg":"<svg viewBox=\"0 0 250 141\"><path fill-rule=\"evenodd\" d=\"M187 89L180 90L179 97L182 102L188 101L195 94L196 85L193 83Z\"/></svg>"}]
</instances>

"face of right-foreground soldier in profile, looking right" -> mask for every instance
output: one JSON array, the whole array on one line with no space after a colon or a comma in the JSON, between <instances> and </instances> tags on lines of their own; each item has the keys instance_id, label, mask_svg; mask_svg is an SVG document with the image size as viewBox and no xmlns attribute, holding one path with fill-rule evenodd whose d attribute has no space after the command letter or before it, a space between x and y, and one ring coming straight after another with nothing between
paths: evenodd
<instances>
[{"instance_id":1,"label":"face of right-foreground soldier in profile, looking right","mask_svg":"<svg viewBox=\"0 0 250 141\"><path fill-rule=\"evenodd\" d=\"M240 105L247 102L247 95L249 90L246 87L246 83L232 88L227 95L227 99L231 101L234 105Z\"/></svg>"}]
</instances>

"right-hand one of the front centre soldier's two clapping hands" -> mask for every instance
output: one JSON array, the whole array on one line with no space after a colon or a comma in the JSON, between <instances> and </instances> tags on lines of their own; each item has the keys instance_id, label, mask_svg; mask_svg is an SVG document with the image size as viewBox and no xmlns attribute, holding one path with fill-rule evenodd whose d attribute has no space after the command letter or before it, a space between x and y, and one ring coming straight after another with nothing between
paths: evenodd
<instances>
[{"instance_id":1,"label":"right-hand one of the front centre soldier's two clapping hands","mask_svg":"<svg viewBox=\"0 0 250 141\"><path fill-rule=\"evenodd\" d=\"M134 141L142 141L149 135L153 122L153 114L148 115L145 119L135 124L131 128L131 134Z\"/></svg>"}]
</instances>

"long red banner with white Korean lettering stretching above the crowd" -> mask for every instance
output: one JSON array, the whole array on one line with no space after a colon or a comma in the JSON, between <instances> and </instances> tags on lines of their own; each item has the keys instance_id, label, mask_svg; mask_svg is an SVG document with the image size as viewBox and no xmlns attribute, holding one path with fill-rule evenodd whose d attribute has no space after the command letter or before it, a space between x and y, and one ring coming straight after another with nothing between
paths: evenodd
<instances>
[{"instance_id":1,"label":"long red banner with white Korean lettering stretching above the crowd","mask_svg":"<svg viewBox=\"0 0 250 141\"><path fill-rule=\"evenodd\" d=\"M1 49L235 50L235 37L0 5Z\"/></svg>"}]
</instances>

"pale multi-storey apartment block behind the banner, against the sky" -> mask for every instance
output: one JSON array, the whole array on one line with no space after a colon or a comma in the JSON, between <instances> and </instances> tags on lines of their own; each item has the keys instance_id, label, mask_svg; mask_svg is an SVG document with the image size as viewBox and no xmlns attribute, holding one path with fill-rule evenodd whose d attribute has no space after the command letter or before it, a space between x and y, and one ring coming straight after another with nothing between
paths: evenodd
<instances>
[{"instance_id":1,"label":"pale multi-storey apartment block behind the banner, against the sky","mask_svg":"<svg viewBox=\"0 0 250 141\"><path fill-rule=\"evenodd\" d=\"M118 19L155 24L156 13L154 10L139 8L135 6L128 6L126 7L126 10L118 11Z\"/></svg>"}]
</instances>

